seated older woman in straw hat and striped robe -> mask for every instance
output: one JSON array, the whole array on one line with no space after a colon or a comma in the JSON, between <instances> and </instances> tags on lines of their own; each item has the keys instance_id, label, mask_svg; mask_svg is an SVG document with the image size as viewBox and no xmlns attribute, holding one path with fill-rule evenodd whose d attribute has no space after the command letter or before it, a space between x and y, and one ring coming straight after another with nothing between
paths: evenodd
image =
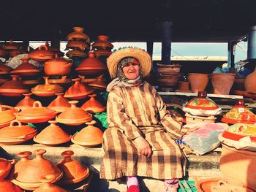
<instances>
[{"instance_id":1,"label":"seated older woman in straw hat and striped robe","mask_svg":"<svg viewBox=\"0 0 256 192\"><path fill-rule=\"evenodd\" d=\"M151 70L144 50L125 48L108 58L108 129L104 133L100 176L127 177L127 191L139 191L137 176L165 180L164 191L177 191L185 158L176 139L186 133L166 110L157 91L142 78Z\"/></svg>"}]
</instances>

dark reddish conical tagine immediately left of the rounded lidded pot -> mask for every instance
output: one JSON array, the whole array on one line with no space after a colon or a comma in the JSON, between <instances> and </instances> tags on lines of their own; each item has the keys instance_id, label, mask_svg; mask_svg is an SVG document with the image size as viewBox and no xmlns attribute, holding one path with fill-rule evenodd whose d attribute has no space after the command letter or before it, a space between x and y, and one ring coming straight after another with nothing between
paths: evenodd
<instances>
[{"instance_id":1,"label":"dark reddish conical tagine immediately left of the rounded lidded pot","mask_svg":"<svg viewBox=\"0 0 256 192\"><path fill-rule=\"evenodd\" d=\"M10 74L16 74L19 77L34 77L41 72L36 66L29 64L29 58L20 58L20 60L23 64L13 69Z\"/></svg>"}]
</instances>

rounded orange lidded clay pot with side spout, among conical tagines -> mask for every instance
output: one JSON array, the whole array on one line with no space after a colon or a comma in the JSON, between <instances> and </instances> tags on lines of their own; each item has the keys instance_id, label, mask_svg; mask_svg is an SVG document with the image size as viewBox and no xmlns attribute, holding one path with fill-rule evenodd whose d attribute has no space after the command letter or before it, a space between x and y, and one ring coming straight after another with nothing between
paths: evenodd
<instances>
[{"instance_id":1,"label":"rounded orange lidded clay pot with side spout, among conical tagines","mask_svg":"<svg viewBox=\"0 0 256 192\"><path fill-rule=\"evenodd\" d=\"M46 76L65 76L70 74L72 63L64 58L59 58L55 55L55 58L45 62L44 72Z\"/></svg>"}]
</instances>

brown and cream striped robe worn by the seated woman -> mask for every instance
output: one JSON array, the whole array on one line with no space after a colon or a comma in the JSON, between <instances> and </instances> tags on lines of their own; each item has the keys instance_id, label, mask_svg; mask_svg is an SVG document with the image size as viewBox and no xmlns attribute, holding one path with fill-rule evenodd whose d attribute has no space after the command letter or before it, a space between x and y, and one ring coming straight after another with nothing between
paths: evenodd
<instances>
[{"instance_id":1,"label":"brown and cream striped robe worn by the seated woman","mask_svg":"<svg viewBox=\"0 0 256 192\"><path fill-rule=\"evenodd\" d=\"M114 87L108 95L107 114L102 179L132 175L156 179L183 177L186 159L175 139L181 139L184 131L151 85L144 82L139 86ZM140 136L151 145L150 158L140 155L132 142Z\"/></svg>"}]
</instances>

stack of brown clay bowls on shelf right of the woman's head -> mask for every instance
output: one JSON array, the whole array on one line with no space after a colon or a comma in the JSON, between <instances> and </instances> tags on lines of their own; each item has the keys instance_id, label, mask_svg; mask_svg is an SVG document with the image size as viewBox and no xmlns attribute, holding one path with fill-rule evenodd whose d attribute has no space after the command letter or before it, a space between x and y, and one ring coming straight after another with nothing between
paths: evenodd
<instances>
[{"instance_id":1,"label":"stack of brown clay bowls on shelf right of the woman's head","mask_svg":"<svg viewBox=\"0 0 256 192\"><path fill-rule=\"evenodd\" d=\"M174 91L181 77L181 65L157 64L157 82L162 91Z\"/></svg>"}]
</instances>

